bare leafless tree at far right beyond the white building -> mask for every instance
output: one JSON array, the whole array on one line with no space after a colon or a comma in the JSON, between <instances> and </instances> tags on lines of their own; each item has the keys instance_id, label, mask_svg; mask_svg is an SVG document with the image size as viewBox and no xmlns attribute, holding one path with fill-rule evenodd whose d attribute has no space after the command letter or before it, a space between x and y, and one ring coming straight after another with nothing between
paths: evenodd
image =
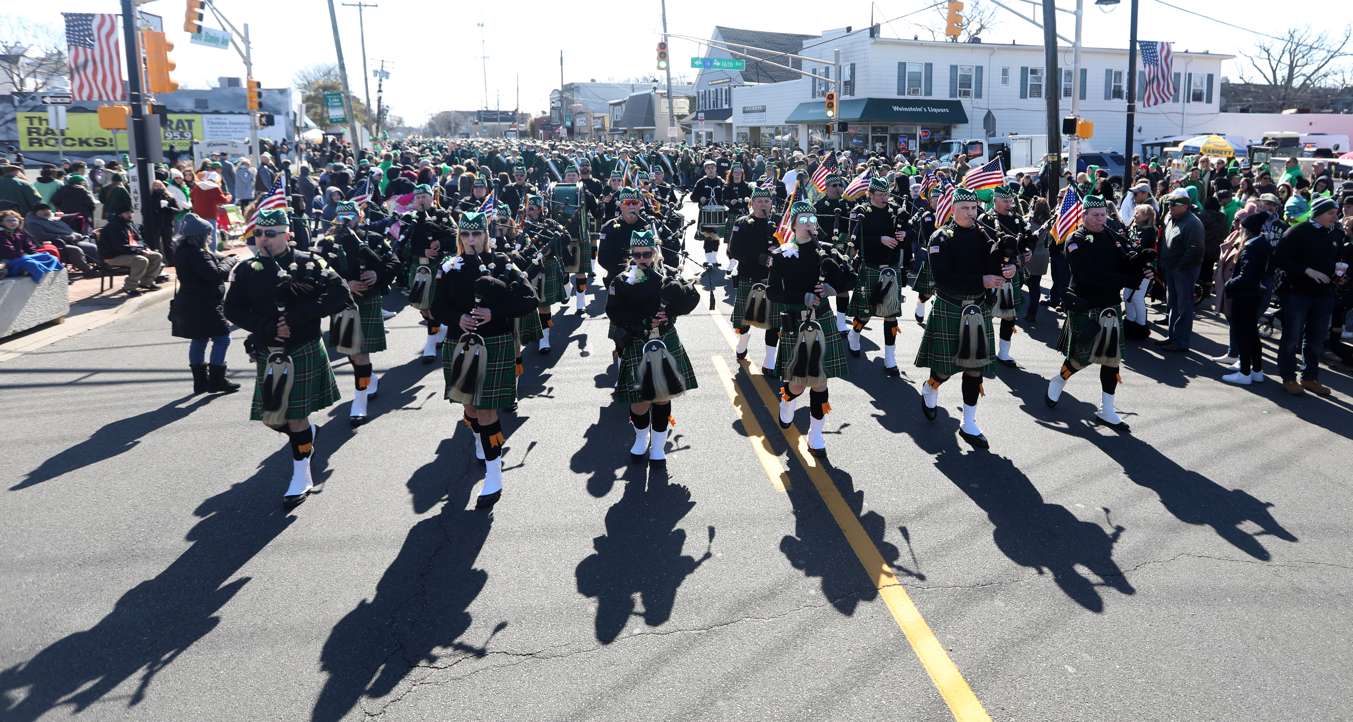
<instances>
[{"instance_id":1,"label":"bare leafless tree at far right beyond the white building","mask_svg":"<svg viewBox=\"0 0 1353 722\"><path fill-rule=\"evenodd\" d=\"M1338 61L1349 57L1350 42L1353 26L1318 33L1311 26L1291 27L1281 41L1262 39L1252 53L1242 53L1253 72L1242 68L1241 81L1269 87L1262 93L1266 98L1256 99L1260 103L1298 107L1319 95L1321 88L1346 79L1348 68Z\"/></svg>"}]
</instances>

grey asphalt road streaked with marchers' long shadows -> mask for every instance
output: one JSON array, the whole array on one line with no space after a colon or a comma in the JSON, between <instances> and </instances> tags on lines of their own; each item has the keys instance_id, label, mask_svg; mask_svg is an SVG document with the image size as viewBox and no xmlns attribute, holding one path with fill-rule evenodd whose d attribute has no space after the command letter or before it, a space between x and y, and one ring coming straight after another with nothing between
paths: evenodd
<instances>
[{"instance_id":1,"label":"grey asphalt road streaked with marchers' long shadows","mask_svg":"<svg viewBox=\"0 0 1353 722\"><path fill-rule=\"evenodd\" d=\"M989 451L957 436L957 385L923 419L915 324L884 377L874 321L813 470L701 307L679 322L700 387L651 473L597 301L526 355L492 513L415 312L375 356L372 421L315 416L322 492L291 513L244 335L242 393L189 396L164 313L0 364L0 719L953 719L898 599L992 719L1353 718L1353 381L1227 386L1211 312L1192 354L1130 347L1118 436L1088 421L1093 374L1043 406L1043 310L985 382Z\"/></svg>"}]
</instances>

